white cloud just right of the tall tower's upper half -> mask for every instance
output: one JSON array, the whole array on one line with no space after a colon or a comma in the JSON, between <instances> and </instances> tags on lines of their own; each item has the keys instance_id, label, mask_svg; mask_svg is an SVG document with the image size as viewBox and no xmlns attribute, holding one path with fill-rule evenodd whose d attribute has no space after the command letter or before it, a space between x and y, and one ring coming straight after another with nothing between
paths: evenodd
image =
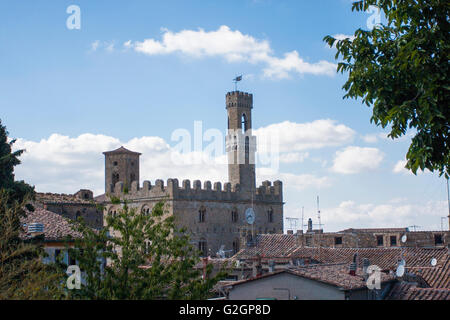
<instances>
[{"instance_id":1,"label":"white cloud just right of the tall tower's upper half","mask_svg":"<svg viewBox=\"0 0 450 320\"><path fill-rule=\"evenodd\" d=\"M335 147L350 143L355 131L325 119L307 123L284 121L254 130L258 138L258 151L264 152L264 141L278 141L280 152ZM261 144L261 145L260 145Z\"/></svg>"}]
</instances>

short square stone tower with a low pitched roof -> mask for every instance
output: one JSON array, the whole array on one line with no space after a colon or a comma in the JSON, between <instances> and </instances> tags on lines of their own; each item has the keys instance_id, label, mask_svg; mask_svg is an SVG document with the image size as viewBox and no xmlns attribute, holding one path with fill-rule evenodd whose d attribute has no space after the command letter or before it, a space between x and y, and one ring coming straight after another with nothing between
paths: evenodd
<instances>
[{"instance_id":1,"label":"short square stone tower with a low pitched roof","mask_svg":"<svg viewBox=\"0 0 450 320\"><path fill-rule=\"evenodd\" d=\"M124 147L103 152L105 155L105 193L114 192L117 182L128 190L133 181L139 182L139 152Z\"/></svg>"}]
</instances>

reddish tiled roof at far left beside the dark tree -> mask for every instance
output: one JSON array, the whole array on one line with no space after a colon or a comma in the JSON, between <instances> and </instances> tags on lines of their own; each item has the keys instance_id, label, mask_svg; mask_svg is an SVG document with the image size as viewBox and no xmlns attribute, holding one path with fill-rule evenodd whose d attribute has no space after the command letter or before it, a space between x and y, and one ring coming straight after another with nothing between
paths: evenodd
<instances>
[{"instance_id":1,"label":"reddish tiled roof at far left beside the dark tree","mask_svg":"<svg viewBox=\"0 0 450 320\"><path fill-rule=\"evenodd\" d=\"M36 208L33 212L27 211L27 217L22 218L22 224L42 223L44 225L45 240L64 240L67 236L80 238L81 234L72 229L69 220L54 212ZM27 228L25 227L25 232ZM22 238L28 238L26 233Z\"/></svg>"}]
</instances>

